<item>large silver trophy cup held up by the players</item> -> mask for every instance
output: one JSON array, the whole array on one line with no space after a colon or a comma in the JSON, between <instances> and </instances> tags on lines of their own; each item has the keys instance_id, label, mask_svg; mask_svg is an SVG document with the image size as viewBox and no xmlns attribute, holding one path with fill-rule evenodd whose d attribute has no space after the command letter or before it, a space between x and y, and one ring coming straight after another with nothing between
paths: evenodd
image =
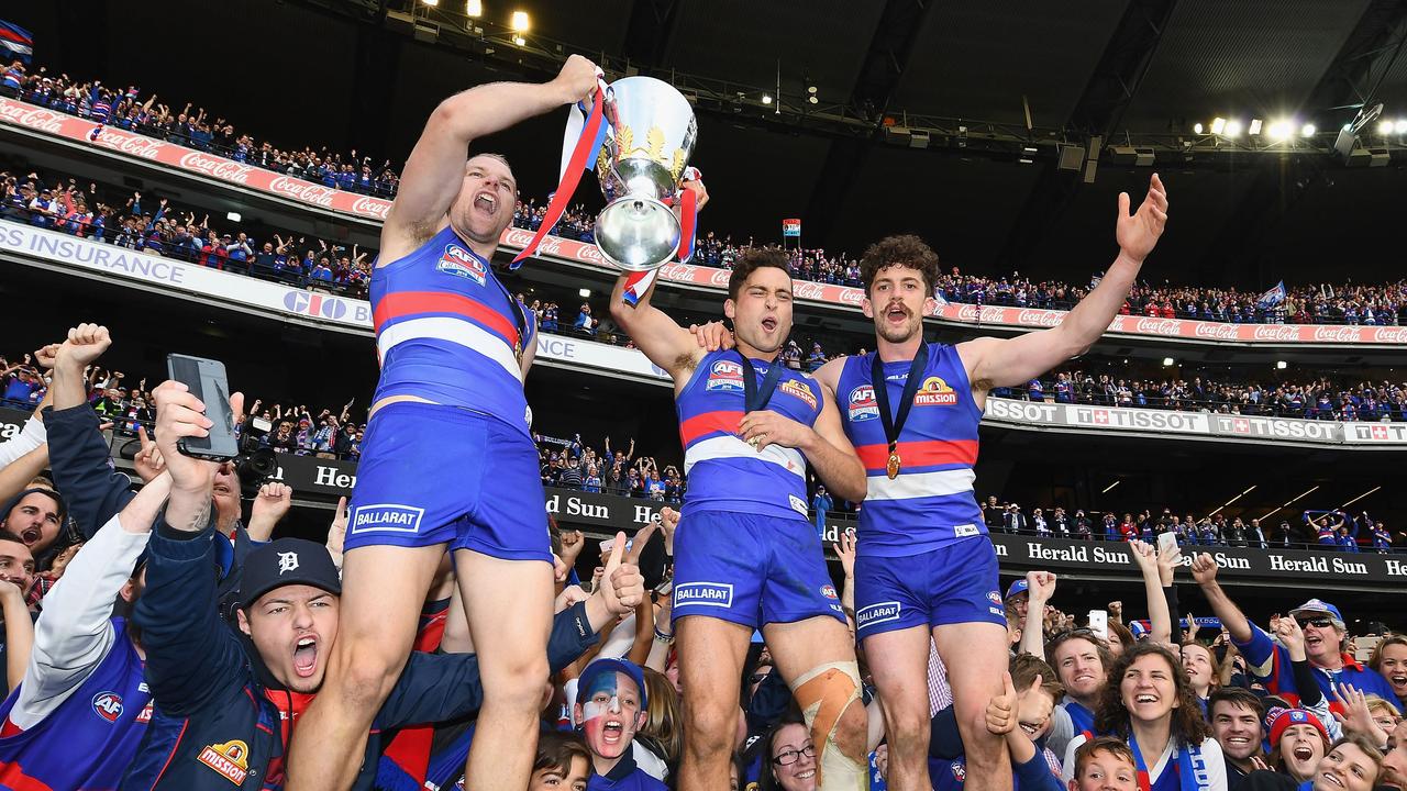
<instances>
[{"instance_id":1,"label":"large silver trophy cup held up by the players","mask_svg":"<svg viewBox=\"0 0 1407 791\"><path fill-rule=\"evenodd\" d=\"M680 220L664 201L678 196L698 122L674 86L625 77L606 87L611 131L597 175L606 207L597 215L597 248L628 272L664 266L680 246Z\"/></svg>"}]
</instances>

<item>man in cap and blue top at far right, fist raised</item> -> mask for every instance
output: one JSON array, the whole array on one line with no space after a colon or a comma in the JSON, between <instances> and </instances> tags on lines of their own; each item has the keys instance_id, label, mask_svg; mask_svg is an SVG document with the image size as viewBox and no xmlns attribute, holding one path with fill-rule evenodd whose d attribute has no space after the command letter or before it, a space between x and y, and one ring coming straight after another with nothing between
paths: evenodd
<instances>
[{"instance_id":1,"label":"man in cap and blue top at far right, fist raised","mask_svg":"<svg viewBox=\"0 0 1407 791\"><path fill-rule=\"evenodd\" d=\"M1199 555L1192 562L1192 577L1202 587L1211 611L1231 635L1231 642L1245 657L1247 673L1261 680L1271 694L1297 705L1300 694L1287 649L1251 624L1241 608L1231 601L1217 583L1217 562L1210 555ZM1311 598L1292 609L1290 618L1294 618L1304 631L1304 653L1325 698L1337 700L1335 684L1349 684L1366 695L1383 698L1401 711L1392 684L1376 670L1344 653L1346 625L1337 607Z\"/></svg>"}]
</instances>

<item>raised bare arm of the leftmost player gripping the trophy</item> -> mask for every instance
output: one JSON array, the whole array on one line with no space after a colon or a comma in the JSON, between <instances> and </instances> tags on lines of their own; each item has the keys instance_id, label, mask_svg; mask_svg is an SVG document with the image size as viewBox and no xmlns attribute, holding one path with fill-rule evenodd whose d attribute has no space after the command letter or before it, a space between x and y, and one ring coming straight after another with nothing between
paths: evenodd
<instances>
[{"instance_id":1,"label":"raised bare arm of the leftmost player gripping the trophy","mask_svg":"<svg viewBox=\"0 0 1407 791\"><path fill-rule=\"evenodd\" d=\"M395 260L439 229L464 180L470 142L587 99L595 87L595 65L573 55L549 83L488 83L440 101L405 160L381 228L383 260Z\"/></svg>"}]
</instances>

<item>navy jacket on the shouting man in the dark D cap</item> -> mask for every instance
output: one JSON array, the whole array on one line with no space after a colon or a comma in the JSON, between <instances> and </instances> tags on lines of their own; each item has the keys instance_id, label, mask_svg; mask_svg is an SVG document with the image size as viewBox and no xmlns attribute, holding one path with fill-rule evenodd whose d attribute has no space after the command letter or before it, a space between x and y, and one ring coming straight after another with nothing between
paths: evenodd
<instances>
[{"instance_id":1,"label":"navy jacket on the shouting man in the dark D cap","mask_svg":"<svg viewBox=\"0 0 1407 791\"><path fill-rule=\"evenodd\" d=\"M283 785L280 718L290 714L293 694L277 685L257 649L221 621L211 573L214 538L214 517L204 531L189 533L170 528L162 514L152 531L146 591L135 621L142 628L155 711L122 790ZM585 604L578 604L553 622L549 662L566 666L595 640ZM287 707L266 690L273 690L274 700L287 700ZM412 653L371 723L353 788L371 787L387 730L464 716L481 701L474 654Z\"/></svg>"}]
</instances>

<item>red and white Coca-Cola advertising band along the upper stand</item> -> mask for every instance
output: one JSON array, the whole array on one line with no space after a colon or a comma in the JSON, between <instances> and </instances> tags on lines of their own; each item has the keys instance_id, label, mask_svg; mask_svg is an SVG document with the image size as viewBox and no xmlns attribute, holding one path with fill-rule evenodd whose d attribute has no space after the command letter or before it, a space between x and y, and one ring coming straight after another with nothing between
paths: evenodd
<instances>
[{"instance_id":1,"label":"red and white Coca-Cola advertising band along the upper stand","mask_svg":"<svg viewBox=\"0 0 1407 791\"><path fill-rule=\"evenodd\" d=\"M253 190L314 210L331 211L343 220L381 222L391 201L314 184L281 176L253 165L243 165L203 151L149 138L117 128L104 128L93 139L96 124L73 115L0 97L0 128L42 135L69 145L89 146L151 166L174 169L189 176ZM522 249L530 231L508 228L499 241L505 252ZM547 236L537 258L557 259L613 272L595 245ZM725 290L729 270L696 265L668 265L660 279L668 283ZM795 297L805 303L830 307L857 307L864 297L860 289L827 283L796 281ZM940 322L1005 329L1045 328L1059 324L1067 311L1017 308L1003 305L941 304L930 315ZM1297 325L1297 324L1228 324L1182 318L1114 317L1109 334L1196 345L1233 346L1400 346L1407 343L1407 327Z\"/></svg>"}]
</instances>

